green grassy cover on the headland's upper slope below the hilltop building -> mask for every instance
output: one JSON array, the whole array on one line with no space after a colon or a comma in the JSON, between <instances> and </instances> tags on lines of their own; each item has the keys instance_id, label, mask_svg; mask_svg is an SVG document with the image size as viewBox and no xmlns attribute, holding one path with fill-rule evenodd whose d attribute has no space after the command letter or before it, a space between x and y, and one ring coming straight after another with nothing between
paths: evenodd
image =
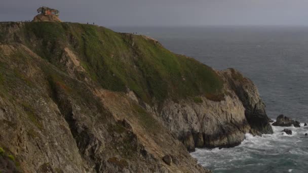
<instances>
[{"instance_id":1,"label":"green grassy cover on the headland's upper slope below the hilltop building","mask_svg":"<svg viewBox=\"0 0 308 173\"><path fill-rule=\"evenodd\" d=\"M212 68L141 35L58 22L25 23L20 35L27 38L23 44L63 71L67 69L59 60L65 47L71 49L87 75L104 89L130 89L149 104L221 93L223 82Z\"/></svg>"}]
</instances>

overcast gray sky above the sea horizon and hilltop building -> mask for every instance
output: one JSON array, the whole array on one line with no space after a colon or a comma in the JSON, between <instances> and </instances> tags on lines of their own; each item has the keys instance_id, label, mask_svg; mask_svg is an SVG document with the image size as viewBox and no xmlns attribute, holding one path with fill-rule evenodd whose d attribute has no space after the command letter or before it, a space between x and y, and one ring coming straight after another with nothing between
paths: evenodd
<instances>
[{"instance_id":1,"label":"overcast gray sky above the sea horizon and hilltop building","mask_svg":"<svg viewBox=\"0 0 308 173\"><path fill-rule=\"evenodd\" d=\"M0 0L0 21L32 20L43 5L103 26L308 25L308 0Z\"/></svg>"}]
</instances>

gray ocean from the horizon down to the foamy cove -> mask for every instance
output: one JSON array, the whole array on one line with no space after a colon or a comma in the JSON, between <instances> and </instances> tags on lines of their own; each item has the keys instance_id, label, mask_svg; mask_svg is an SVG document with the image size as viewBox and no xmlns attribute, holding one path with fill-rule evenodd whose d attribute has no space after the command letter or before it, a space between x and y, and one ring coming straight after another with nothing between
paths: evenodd
<instances>
[{"instance_id":1,"label":"gray ocean from the horizon down to the foamy cove","mask_svg":"<svg viewBox=\"0 0 308 173\"><path fill-rule=\"evenodd\" d=\"M308 27L114 27L158 39L167 49L215 69L235 68L258 87L269 117L308 121ZM303 125L303 124L302 124ZM252 137L238 147L197 149L199 163L214 172L308 172L308 127L293 135Z\"/></svg>"}]
</instances>

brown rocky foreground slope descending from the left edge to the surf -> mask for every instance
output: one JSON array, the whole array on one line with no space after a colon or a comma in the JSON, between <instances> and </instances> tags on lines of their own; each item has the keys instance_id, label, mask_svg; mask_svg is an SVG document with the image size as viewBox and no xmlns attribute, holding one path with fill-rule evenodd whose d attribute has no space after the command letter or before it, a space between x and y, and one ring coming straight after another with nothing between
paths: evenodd
<instances>
[{"instance_id":1,"label":"brown rocky foreground slope descending from the left edge to the surf","mask_svg":"<svg viewBox=\"0 0 308 173\"><path fill-rule=\"evenodd\" d=\"M209 172L125 94L71 78L20 44L0 45L0 63L0 147L22 172Z\"/></svg>"}]
</instances>

